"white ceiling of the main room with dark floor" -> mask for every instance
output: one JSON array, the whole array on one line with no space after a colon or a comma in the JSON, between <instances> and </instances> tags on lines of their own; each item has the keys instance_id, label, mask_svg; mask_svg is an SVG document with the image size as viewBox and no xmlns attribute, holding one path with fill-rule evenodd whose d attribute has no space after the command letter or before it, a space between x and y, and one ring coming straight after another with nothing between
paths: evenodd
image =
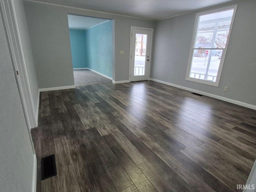
<instances>
[{"instance_id":1,"label":"white ceiling of the main room with dark floor","mask_svg":"<svg viewBox=\"0 0 256 192\"><path fill-rule=\"evenodd\" d=\"M101 12L159 20L237 0L33 0Z\"/></svg>"}]
</instances>

